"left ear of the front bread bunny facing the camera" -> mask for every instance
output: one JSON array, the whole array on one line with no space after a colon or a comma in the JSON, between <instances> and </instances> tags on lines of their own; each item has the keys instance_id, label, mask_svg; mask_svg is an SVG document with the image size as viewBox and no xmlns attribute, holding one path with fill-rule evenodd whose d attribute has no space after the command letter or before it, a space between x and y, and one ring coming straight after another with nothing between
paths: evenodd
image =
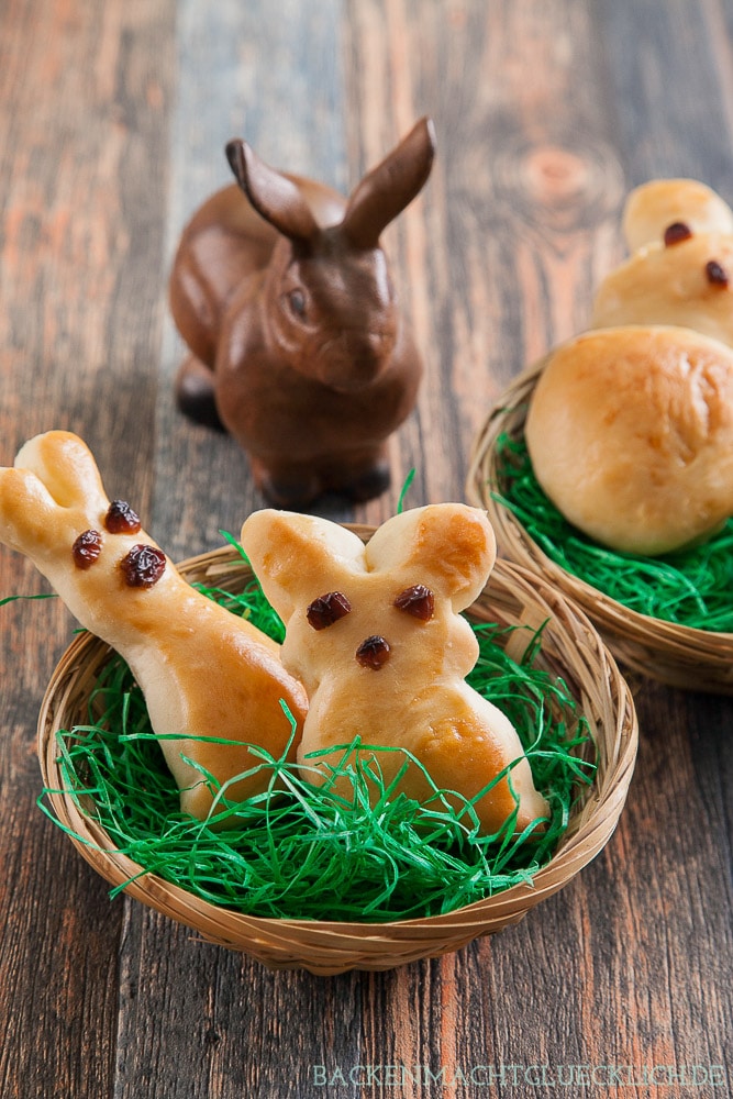
<instances>
[{"instance_id":1,"label":"left ear of the front bread bunny facing the camera","mask_svg":"<svg viewBox=\"0 0 733 1099\"><path fill-rule=\"evenodd\" d=\"M265 596L286 624L298 606L366 568L362 540L313 515L255 511L242 526L241 541Z\"/></svg>"}]
</instances>

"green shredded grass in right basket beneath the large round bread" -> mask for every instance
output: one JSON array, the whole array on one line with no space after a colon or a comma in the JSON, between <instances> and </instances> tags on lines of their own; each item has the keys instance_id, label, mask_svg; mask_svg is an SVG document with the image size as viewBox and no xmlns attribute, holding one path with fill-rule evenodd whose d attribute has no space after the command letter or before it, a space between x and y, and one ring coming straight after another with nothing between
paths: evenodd
<instances>
[{"instance_id":1,"label":"green shredded grass in right basket beneath the large round bread","mask_svg":"<svg viewBox=\"0 0 733 1099\"><path fill-rule=\"evenodd\" d=\"M523 436L499 436L497 469L493 499L555 564L640 614L733 632L733 520L692 550L636 557L603 548L567 522L540 487Z\"/></svg>"}]
</instances>

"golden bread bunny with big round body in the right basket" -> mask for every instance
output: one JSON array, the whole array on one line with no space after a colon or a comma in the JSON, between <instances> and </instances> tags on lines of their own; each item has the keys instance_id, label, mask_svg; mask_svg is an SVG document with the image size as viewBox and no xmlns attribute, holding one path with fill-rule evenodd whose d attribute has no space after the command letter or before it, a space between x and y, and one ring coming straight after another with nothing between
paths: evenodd
<instances>
[{"instance_id":1,"label":"golden bread bunny with big round body in the right basket","mask_svg":"<svg viewBox=\"0 0 733 1099\"><path fill-rule=\"evenodd\" d=\"M569 522L656 555L733 514L733 212L695 180L654 180L624 231L636 252L599 288L591 331L547 356L525 439Z\"/></svg>"}]
</instances>

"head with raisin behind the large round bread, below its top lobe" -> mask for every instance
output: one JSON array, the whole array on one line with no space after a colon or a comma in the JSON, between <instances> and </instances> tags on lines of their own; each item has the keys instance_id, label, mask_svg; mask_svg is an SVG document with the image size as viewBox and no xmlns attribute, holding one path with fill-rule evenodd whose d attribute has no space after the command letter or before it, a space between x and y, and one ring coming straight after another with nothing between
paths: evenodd
<instances>
[{"instance_id":1,"label":"head with raisin behind the large round bread, below its top lobe","mask_svg":"<svg viewBox=\"0 0 733 1099\"><path fill-rule=\"evenodd\" d=\"M625 324L680 324L733 346L733 235L649 245L607 275L591 328Z\"/></svg>"}]
</instances>

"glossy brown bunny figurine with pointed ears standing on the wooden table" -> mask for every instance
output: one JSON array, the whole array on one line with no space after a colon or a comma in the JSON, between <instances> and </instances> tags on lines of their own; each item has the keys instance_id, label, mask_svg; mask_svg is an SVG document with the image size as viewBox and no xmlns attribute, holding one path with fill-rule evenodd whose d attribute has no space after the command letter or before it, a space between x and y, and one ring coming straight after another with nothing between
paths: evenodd
<instances>
[{"instance_id":1,"label":"glossy brown bunny figurine with pointed ears standing on the wooden table","mask_svg":"<svg viewBox=\"0 0 733 1099\"><path fill-rule=\"evenodd\" d=\"M279 507L326 491L367 500L389 485L387 437L414 404L422 363L379 236L421 190L434 149L422 119L346 200L232 141L237 184L184 231L170 278L190 351L179 407L229 431Z\"/></svg>"}]
</instances>

